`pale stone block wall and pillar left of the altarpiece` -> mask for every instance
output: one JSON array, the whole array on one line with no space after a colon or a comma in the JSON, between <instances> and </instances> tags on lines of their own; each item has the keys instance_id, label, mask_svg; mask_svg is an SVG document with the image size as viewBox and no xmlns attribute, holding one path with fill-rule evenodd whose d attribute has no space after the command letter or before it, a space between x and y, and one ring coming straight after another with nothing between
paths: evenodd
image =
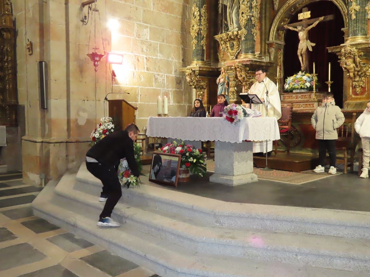
<instances>
[{"instance_id":1,"label":"pale stone block wall and pillar left of the altarpiece","mask_svg":"<svg viewBox=\"0 0 370 277\"><path fill-rule=\"evenodd\" d=\"M13 1L17 28L17 82L19 103L25 107L26 135L22 140L24 180L41 184L60 177L84 160L90 133L104 116L104 97L125 99L138 107L139 128L155 116L157 97L169 98L170 116L186 116L191 109L191 88L179 68L191 62L189 0L98 0L99 14L90 21L80 0ZM92 18L91 18L92 14ZM107 22L118 21L117 31ZM86 56L96 45L124 54L123 65L111 86L105 59L95 73ZM90 43L89 43L90 37ZM26 53L26 41L33 54ZM37 62L47 63L47 109L41 109ZM107 110L107 104L105 107ZM105 112L107 115L107 112Z\"/></svg>"}]
</instances>

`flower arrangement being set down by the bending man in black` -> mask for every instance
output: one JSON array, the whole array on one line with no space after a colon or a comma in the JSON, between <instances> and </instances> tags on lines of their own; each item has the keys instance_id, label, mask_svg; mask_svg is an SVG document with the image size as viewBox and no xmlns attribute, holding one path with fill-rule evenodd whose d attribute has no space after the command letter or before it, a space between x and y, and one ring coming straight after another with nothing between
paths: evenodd
<instances>
[{"instance_id":1,"label":"flower arrangement being set down by the bending man in black","mask_svg":"<svg viewBox=\"0 0 370 277\"><path fill-rule=\"evenodd\" d=\"M141 175L142 163L141 163L141 146L138 143L134 143L134 157L139 167L139 174ZM123 187L140 187L141 181L138 177L132 175L130 168L128 167L127 160L124 158L118 165L118 179Z\"/></svg>"}]
</instances>

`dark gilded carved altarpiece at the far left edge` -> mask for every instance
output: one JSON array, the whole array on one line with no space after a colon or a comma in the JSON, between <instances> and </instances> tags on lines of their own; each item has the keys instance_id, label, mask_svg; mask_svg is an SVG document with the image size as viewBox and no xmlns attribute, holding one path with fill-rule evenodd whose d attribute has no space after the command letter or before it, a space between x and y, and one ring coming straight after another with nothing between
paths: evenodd
<instances>
[{"instance_id":1,"label":"dark gilded carved altarpiece at the far left edge","mask_svg":"<svg viewBox=\"0 0 370 277\"><path fill-rule=\"evenodd\" d=\"M15 30L10 0L0 0L0 125L17 126Z\"/></svg>"}]
</instances>

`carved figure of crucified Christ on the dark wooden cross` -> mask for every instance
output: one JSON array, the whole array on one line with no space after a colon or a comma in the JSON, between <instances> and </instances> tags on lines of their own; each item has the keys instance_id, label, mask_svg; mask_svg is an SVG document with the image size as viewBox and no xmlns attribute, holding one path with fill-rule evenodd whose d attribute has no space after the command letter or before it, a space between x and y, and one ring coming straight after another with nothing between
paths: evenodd
<instances>
[{"instance_id":1,"label":"carved figure of crucified Christ on the dark wooden cross","mask_svg":"<svg viewBox=\"0 0 370 277\"><path fill-rule=\"evenodd\" d=\"M308 71L308 62L307 62L307 48L309 51L312 51L312 46L315 45L315 43L310 42L307 40L308 31L311 30L313 27L315 27L317 24L319 24L320 21L322 21L324 17L320 17L317 21L315 21L312 25L305 27L305 26L298 26L297 28L285 25L284 28L296 31L298 32L298 38L299 38L299 45L298 45L298 59L301 64L301 70L307 72Z\"/></svg>"}]
</instances>

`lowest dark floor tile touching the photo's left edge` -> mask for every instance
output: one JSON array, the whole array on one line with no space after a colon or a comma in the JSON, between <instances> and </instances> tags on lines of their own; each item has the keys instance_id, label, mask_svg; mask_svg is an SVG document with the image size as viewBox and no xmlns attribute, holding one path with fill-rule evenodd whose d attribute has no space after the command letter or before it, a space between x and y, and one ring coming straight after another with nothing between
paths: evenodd
<instances>
[{"instance_id":1,"label":"lowest dark floor tile touching the photo's left edge","mask_svg":"<svg viewBox=\"0 0 370 277\"><path fill-rule=\"evenodd\" d=\"M20 243L0 249L0 271L40 261L46 256L28 243Z\"/></svg>"}]
</instances>

